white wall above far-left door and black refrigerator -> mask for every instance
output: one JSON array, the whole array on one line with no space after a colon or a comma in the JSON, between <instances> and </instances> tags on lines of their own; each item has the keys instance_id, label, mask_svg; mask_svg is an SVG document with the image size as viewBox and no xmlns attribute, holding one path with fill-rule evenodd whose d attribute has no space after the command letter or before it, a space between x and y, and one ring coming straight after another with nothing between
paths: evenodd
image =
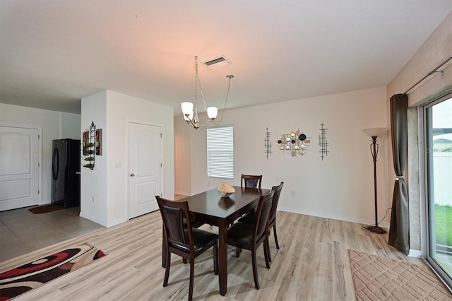
<instances>
[{"instance_id":1,"label":"white wall above far-left door and black refrigerator","mask_svg":"<svg viewBox=\"0 0 452 301\"><path fill-rule=\"evenodd\" d=\"M80 119L80 114L40 110L0 103L1 125L42 130L42 204L51 202L52 140L60 138L79 139Z\"/></svg>"}]
</instances>

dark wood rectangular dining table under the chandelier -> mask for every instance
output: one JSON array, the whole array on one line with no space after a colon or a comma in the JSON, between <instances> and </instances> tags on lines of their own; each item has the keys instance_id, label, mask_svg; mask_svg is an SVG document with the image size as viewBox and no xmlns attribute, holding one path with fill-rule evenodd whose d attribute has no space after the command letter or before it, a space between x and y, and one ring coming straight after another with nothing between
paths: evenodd
<instances>
[{"instance_id":1,"label":"dark wood rectangular dining table under the chandelier","mask_svg":"<svg viewBox=\"0 0 452 301\"><path fill-rule=\"evenodd\" d=\"M222 198L215 188L179 200L188 201L192 220L218 227L218 281L220 295L223 296L227 292L227 228L234 220L255 208L260 196L270 191L237 186L234 189L235 192L228 198ZM165 256L162 265L166 265Z\"/></svg>"}]
</instances>

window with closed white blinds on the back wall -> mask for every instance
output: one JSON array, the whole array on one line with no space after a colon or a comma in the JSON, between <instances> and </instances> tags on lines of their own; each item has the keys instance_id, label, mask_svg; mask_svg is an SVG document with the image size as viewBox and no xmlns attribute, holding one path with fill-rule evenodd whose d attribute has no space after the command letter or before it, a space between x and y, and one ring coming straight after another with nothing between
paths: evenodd
<instances>
[{"instance_id":1,"label":"window with closed white blinds on the back wall","mask_svg":"<svg viewBox=\"0 0 452 301\"><path fill-rule=\"evenodd\" d=\"M234 177L234 127L207 129L207 176Z\"/></svg>"}]
</instances>

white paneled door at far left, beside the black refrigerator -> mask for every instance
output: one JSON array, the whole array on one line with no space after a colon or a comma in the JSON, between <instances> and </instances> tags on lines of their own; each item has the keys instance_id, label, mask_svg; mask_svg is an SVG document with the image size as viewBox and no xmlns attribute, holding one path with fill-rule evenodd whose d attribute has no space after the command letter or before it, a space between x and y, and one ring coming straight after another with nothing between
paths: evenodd
<instances>
[{"instance_id":1,"label":"white paneled door at far left, beside the black refrigerator","mask_svg":"<svg viewBox=\"0 0 452 301\"><path fill-rule=\"evenodd\" d=\"M38 204L38 129L0 126L0 211Z\"/></svg>"}]
</instances>

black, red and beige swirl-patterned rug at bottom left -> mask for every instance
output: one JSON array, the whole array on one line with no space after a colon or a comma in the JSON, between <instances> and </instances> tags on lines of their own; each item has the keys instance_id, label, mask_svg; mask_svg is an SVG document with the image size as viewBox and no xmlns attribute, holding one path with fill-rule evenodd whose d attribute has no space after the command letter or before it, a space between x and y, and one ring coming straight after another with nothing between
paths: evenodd
<instances>
[{"instance_id":1,"label":"black, red and beige swirl-patterned rug at bottom left","mask_svg":"<svg viewBox=\"0 0 452 301\"><path fill-rule=\"evenodd\" d=\"M85 243L0 273L0 301L38 288L105 255Z\"/></svg>"}]
</instances>

